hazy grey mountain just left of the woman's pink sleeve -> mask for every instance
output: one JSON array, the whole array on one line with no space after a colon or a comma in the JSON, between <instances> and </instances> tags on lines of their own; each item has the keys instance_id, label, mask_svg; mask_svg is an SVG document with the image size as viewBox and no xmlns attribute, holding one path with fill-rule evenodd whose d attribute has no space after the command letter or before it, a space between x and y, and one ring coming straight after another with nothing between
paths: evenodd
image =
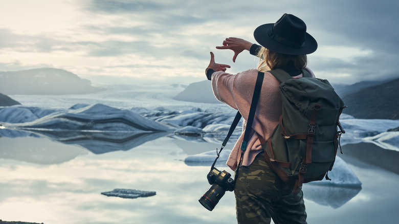
<instances>
[{"instance_id":1,"label":"hazy grey mountain just left of the woman's pink sleeve","mask_svg":"<svg viewBox=\"0 0 399 224\"><path fill-rule=\"evenodd\" d=\"M173 99L196 103L220 103L213 95L209 80L191 83L183 92L173 97Z\"/></svg>"}]
</instances>

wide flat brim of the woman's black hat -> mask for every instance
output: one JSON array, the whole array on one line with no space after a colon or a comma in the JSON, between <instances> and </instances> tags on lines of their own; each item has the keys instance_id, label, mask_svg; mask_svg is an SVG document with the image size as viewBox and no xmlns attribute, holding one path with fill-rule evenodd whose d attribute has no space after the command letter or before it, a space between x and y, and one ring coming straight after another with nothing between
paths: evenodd
<instances>
[{"instance_id":1,"label":"wide flat brim of the woman's black hat","mask_svg":"<svg viewBox=\"0 0 399 224\"><path fill-rule=\"evenodd\" d=\"M270 38L268 32L270 29L272 29L273 26L274 24L263 24L255 29L255 40L262 47L277 53L289 55L305 55L311 54L316 51L317 41L315 40L315 38L313 38L313 36L308 33L306 33L305 42L301 48L285 46L284 44Z\"/></svg>"}]
</instances>

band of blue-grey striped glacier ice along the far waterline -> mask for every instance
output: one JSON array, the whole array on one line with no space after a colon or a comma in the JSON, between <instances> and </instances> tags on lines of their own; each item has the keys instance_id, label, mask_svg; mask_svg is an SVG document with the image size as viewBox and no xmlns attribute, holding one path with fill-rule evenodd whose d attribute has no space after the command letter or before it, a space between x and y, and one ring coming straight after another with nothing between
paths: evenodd
<instances>
[{"instance_id":1,"label":"band of blue-grey striped glacier ice along the far waterline","mask_svg":"<svg viewBox=\"0 0 399 224\"><path fill-rule=\"evenodd\" d=\"M198 107L184 110L165 107L152 110L143 107L119 109L97 103L76 104L69 109L46 109L16 105L0 107L0 135L23 137L30 135L24 131L31 131L60 140L60 135L57 137L54 133L64 131L62 136L66 137L63 140L72 140L83 136L112 139L115 138L112 133L123 133L125 137L120 139L128 139L131 133L170 132L180 136L202 137L205 141L208 141L208 137L223 141L234 116L234 110L208 111ZM399 151L398 131L387 132L388 129L399 127L399 120L354 119L343 114L340 121L346 130L341 138L342 146L367 142ZM239 137L241 126L242 119L230 141ZM78 133L75 138L71 137L74 133Z\"/></svg>"}]
</instances>

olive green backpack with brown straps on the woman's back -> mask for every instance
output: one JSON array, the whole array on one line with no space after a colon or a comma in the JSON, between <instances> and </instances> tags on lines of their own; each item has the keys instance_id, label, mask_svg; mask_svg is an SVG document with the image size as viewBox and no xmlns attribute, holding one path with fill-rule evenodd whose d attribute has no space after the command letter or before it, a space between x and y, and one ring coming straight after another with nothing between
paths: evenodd
<instances>
[{"instance_id":1,"label":"olive green backpack with brown straps on the woman's back","mask_svg":"<svg viewBox=\"0 0 399 224\"><path fill-rule=\"evenodd\" d=\"M302 183L330 180L327 172L345 133L339 122L344 102L327 80L311 78L306 70L303 78L269 72L281 82L282 115L270 139L259 136L264 159L285 183L295 184L294 192Z\"/></svg>"}]
</instances>

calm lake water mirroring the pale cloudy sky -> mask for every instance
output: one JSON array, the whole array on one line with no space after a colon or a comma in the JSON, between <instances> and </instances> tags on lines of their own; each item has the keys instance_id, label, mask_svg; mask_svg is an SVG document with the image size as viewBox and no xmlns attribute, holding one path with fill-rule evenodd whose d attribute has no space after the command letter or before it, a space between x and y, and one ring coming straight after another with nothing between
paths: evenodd
<instances>
[{"instance_id":1,"label":"calm lake water mirroring the pale cloudy sky","mask_svg":"<svg viewBox=\"0 0 399 224\"><path fill-rule=\"evenodd\" d=\"M197 201L209 187L209 166L182 161L188 154L218 147L216 144L164 137L103 154L47 138L3 137L0 145L2 220L46 224L236 222L233 193L227 192L209 212ZM306 185L308 223L397 223L399 175L350 158L347 162L363 183L362 189L355 190L353 198L349 189L347 198L343 194L348 191L340 188L320 190ZM223 165L218 168L230 172ZM157 195L136 199L101 195L115 188L156 191Z\"/></svg>"}]
</instances>

